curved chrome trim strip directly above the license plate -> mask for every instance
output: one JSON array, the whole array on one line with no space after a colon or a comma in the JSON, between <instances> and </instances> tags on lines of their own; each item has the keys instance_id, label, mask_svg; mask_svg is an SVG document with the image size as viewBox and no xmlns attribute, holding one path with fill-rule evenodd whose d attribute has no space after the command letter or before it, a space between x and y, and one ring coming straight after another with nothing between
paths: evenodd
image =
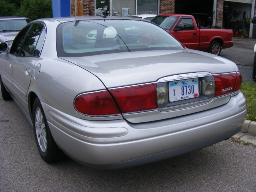
<instances>
[{"instance_id":1,"label":"curved chrome trim strip directly above the license plate","mask_svg":"<svg viewBox=\"0 0 256 192\"><path fill-rule=\"evenodd\" d=\"M188 79L188 78L199 78L199 77L206 77L206 76L212 76L212 74L209 72L196 72L196 73L172 75L172 76L160 78L156 83L169 82L169 81L174 81L174 80L183 80L183 79Z\"/></svg>"}]
</instances>

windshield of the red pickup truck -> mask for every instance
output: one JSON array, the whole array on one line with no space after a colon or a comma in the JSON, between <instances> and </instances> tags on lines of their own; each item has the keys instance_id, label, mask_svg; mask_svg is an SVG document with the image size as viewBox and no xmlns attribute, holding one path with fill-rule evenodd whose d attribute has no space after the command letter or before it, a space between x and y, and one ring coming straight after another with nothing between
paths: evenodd
<instances>
[{"instance_id":1,"label":"windshield of the red pickup truck","mask_svg":"<svg viewBox=\"0 0 256 192\"><path fill-rule=\"evenodd\" d=\"M151 20L151 22L159 25L165 30L170 30L176 23L177 19L177 16L156 16Z\"/></svg>"}]
</instances>

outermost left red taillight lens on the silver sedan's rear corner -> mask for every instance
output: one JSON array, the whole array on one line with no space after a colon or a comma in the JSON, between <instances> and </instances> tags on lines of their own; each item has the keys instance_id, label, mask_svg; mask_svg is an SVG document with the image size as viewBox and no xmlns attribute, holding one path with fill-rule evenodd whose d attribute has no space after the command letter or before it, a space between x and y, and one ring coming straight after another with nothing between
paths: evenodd
<instances>
[{"instance_id":1,"label":"outermost left red taillight lens on the silver sedan's rear corner","mask_svg":"<svg viewBox=\"0 0 256 192\"><path fill-rule=\"evenodd\" d=\"M87 115L120 114L116 103L107 90L82 94L76 97L74 106L78 112Z\"/></svg>"}]
</instances>

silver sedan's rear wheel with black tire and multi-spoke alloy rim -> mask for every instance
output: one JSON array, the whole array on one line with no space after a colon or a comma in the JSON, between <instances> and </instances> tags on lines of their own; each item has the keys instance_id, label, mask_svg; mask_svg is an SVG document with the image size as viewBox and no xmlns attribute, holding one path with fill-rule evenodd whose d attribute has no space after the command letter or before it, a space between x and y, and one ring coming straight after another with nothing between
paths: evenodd
<instances>
[{"instance_id":1,"label":"silver sedan's rear wheel with black tire and multi-spoke alloy rim","mask_svg":"<svg viewBox=\"0 0 256 192\"><path fill-rule=\"evenodd\" d=\"M63 152L58 148L52 137L44 110L38 98L34 101L32 118L34 136L40 156L48 163L58 162L62 159Z\"/></svg>"}]
</instances>

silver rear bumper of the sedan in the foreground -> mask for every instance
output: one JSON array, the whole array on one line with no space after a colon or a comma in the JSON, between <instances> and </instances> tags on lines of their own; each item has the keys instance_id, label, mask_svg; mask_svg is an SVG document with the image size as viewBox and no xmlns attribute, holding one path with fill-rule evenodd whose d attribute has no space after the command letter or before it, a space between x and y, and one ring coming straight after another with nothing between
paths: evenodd
<instances>
[{"instance_id":1,"label":"silver rear bumper of the sedan in the foreground","mask_svg":"<svg viewBox=\"0 0 256 192\"><path fill-rule=\"evenodd\" d=\"M58 146L98 168L135 166L209 146L239 132L246 116L242 93L204 112L142 124L82 120L42 105Z\"/></svg>"}]
</instances>

